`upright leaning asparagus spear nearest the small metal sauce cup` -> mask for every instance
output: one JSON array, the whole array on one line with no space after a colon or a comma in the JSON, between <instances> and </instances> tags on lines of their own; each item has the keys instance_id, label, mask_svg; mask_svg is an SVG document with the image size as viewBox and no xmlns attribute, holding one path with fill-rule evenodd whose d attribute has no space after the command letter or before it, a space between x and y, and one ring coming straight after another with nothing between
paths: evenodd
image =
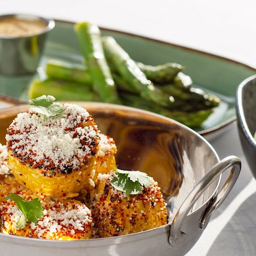
<instances>
[{"instance_id":1,"label":"upright leaning asparagus spear nearest the small metal sauce cup","mask_svg":"<svg viewBox=\"0 0 256 256\"><path fill-rule=\"evenodd\" d=\"M75 25L75 32L93 80L93 89L104 102L120 103L110 68L106 63L99 28L83 22Z\"/></svg>"}]
</instances>

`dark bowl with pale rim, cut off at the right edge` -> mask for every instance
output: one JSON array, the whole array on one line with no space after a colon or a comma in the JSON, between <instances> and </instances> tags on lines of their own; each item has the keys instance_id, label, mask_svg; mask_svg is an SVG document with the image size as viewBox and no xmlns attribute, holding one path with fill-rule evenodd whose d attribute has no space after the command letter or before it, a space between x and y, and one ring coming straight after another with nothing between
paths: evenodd
<instances>
[{"instance_id":1,"label":"dark bowl with pale rim, cut off at the right edge","mask_svg":"<svg viewBox=\"0 0 256 256\"><path fill-rule=\"evenodd\" d=\"M246 160L256 178L256 75L245 79L237 90L237 117L240 141Z\"/></svg>"}]
</instances>

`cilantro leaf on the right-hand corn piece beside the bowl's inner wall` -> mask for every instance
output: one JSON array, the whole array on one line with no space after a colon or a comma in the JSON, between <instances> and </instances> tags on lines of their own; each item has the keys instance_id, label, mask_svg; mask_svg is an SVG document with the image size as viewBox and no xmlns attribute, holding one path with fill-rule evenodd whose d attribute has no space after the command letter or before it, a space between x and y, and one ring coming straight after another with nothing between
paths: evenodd
<instances>
[{"instance_id":1,"label":"cilantro leaf on the right-hand corn piece beside the bowl's inner wall","mask_svg":"<svg viewBox=\"0 0 256 256\"><path fill-rule=\"evenodd\" d=\"M152 178L138 170L120 170L113 173L114 176L110 183L117 190L125 192L126 197L130 200L130 195L137 195L143 190L143 186L148 188L152 184Z\"/></svg>"}]
</instances>

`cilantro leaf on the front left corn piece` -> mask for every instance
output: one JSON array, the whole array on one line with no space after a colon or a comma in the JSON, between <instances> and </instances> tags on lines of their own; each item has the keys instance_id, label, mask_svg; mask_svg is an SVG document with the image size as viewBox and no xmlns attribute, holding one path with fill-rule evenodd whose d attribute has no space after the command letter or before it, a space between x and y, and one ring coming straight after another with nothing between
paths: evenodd
<instances>
[{"instance_id":1,"label":"cilantro leaf on the front left corn piece","mask_svg":"<svg viewBox=\"0 0 256 256\"><path fill-rule=\"evenodd\" d=\"M19 219L17 223L17 228L25 228L27 220L29 223L34 222L36 225L38 219L41 220L42 216L44 216L44 212L42 212L43 208L41 207L41 203L38 198L26 201L22 197L13 193L11 193L9 197L4 198L14 201L17 204L18 208L23 212L23 216Z\"/></svg>"}]
</instances>

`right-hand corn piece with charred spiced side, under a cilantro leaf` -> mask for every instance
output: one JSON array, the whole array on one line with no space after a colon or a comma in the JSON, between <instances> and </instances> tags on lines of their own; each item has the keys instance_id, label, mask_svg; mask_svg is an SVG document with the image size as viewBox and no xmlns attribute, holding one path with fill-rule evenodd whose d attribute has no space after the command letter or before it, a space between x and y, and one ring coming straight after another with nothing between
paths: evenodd
<instances>
[{"instance_id":1,"label":"right-hand corn piece with charred spiced side, under a cilantro leaf","mask_svg":"<svg viewBox=\"0 0 256 256\"><path fill-rule=\"evenodd\" d=\"M167 223L168 213L160 188L152 185L138 195L126 195L110 183L113 174L99 174L93 210L96 237L113 237L139 232Z\"/></svg>"}]
</instances>

